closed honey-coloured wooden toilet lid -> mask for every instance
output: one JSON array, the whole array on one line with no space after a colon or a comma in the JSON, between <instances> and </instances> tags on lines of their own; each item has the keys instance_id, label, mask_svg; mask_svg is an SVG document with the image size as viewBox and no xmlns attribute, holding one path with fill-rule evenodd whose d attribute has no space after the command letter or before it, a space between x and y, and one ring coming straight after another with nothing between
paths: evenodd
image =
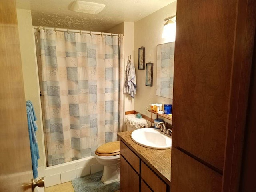
<instances>
[{"instance_id":1,"label":"closed honey-coloured wooden toilet lid","mask_svg":"<svg viewBox=\"0 0 256 192\"><path fill-rule=\"evenodd\" d=\"M114 156L120 154L120 144L119 141L105 143L99 146L96 151L96 155L99 156Z\"/></svg>"}]
</instances>

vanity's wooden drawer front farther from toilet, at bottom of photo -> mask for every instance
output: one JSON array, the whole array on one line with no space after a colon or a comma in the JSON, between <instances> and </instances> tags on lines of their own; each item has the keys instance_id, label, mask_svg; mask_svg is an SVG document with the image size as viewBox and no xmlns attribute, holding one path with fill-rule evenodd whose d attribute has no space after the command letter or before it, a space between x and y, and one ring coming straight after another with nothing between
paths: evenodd
<instances>
[{"instance_id":1,"label":"vanity's wooden drawer front farther from toilet, at bottom of photo","mask_svg":"<svg viewBox=\"0 0 256 192\"><path fill-rule=\"evenodd\" d=\"M141 178L154 192L166 192L167 185L144 162L141 162Z\"/></svg>"}]
</instances>

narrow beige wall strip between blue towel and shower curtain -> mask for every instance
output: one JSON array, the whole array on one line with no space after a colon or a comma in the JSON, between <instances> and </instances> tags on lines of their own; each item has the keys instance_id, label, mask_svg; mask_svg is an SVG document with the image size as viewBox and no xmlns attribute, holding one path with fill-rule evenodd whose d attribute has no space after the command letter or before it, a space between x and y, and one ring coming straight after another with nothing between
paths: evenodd
<instances>
[{"instance_id":1,"label":"narrow beige wall strip between blue towel and shower curtain","mask_svg":"<svg viewBox=\"0 0 256 192\"><path fill-rule=\"evenodd\" d=\"M44 166L44 141L42 130L42 112L40 104L40 90L38 80L38 70L36 64L36 54L34 49L34 34L32 29L31 10L17 9L18 29L20 36L20 53L22 61L22 71L24 78L24 89L26 100L33 102L38 130L36 132L40 159L38 166Z\"/></svg>"}]
</instances>

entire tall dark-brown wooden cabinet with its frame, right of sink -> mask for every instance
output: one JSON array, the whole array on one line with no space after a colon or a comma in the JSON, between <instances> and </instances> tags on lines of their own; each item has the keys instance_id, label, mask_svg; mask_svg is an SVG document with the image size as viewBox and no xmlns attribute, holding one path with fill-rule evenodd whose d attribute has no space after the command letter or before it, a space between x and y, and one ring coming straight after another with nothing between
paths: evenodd
<instances>
[{"instance_id":1,"label":"entire tall dark-brown wooden cabinet with its frame, right of sink","mask_svg":"<svg viewBox=\"0 0 256 192\"><path fill-rule=\"evenodd\" d=\"M239 191L251 67L255 65L255 3L177 2L172 190ZM193 170L194 166L198 169ZM204 166L211 171L206 172ZM208 180L211 172L222 180L219 176ZM195 184L204 186L199 190Z\"/></svg>"}]
</instances>

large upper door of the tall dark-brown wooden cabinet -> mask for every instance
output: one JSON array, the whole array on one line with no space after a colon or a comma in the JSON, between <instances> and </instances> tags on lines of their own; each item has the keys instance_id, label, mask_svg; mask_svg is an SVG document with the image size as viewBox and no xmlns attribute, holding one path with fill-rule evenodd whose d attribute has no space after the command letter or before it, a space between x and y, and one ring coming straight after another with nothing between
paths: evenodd
<instances>
[{"instance_id":1,"label":"large upper door of the tall dark-brown wooden cabinet","mask_svg":"<svg viewBox=\"0 0 256 192\"><path fill-rule=\"evenodd\" d=\"M237 0L177 2L172 146L220 171L224 164L236 4Z\"/></svg>"}]
</instances>

